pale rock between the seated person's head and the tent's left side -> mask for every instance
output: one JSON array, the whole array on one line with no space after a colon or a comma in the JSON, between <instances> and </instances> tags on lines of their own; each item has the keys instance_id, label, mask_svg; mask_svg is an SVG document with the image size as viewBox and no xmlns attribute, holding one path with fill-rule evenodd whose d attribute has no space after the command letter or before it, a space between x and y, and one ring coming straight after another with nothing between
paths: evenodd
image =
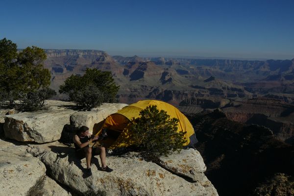
<instances>
[{"instance_id":1,"label":"pale rock between the seated person's head and the tent's left side","mask_svg":"<svg viewBox=\"0 0 294 196\"><path fill-rule=\"evenodd\" d=\"M103 121L109 115L127 106L124 103L103 103L101 106L91 111L76 112L71 116L71 125L74 127L87 126L93 132L95 123Z\"/></svg>"}]
</instances>

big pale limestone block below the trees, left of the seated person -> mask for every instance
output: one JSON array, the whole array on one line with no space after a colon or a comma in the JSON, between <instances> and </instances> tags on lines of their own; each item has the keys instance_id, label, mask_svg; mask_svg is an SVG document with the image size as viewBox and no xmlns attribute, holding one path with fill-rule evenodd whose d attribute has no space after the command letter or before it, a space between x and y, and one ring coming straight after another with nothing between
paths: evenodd
<instances>
[{"instance_id":1,"label":"big pale limestone block below the trees, left of the seated person","mask_svg":"<svg viewBox=\"0 0 294 196\"><path fill-rule=\"evenodd\" d=\"M68 104L71 102L50 100L47 110L7 115L3 125L5 137L36 143L59 140L64 125L70 123L75 112L65 108Z\"/></svg>"}]
</instances>

